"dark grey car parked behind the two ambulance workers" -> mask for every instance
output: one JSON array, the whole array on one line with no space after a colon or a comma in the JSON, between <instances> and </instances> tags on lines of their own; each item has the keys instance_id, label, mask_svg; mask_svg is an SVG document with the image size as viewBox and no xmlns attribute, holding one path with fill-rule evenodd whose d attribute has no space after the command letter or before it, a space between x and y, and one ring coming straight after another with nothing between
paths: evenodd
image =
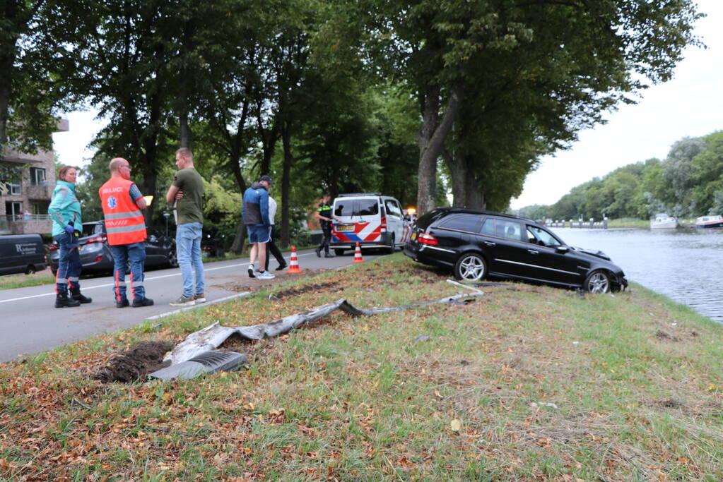
<instances>
[{"instance_id":1,"label":"dark grey car parked behind the two ambulance workers","mask_svg":"<svg viewBox=\"0 0 723 482\"><path fill-rule=\"evenodd\" d=\"M153 227L146 227L146 232L145 266L178 266L176 242ZM113 255L108 247L106 225L102 221L84 222L78 242L83 273L113 271ZM51 250L50 268L54 274L58 271L59 256L57 247Z\"/></svg>"}]
</instances>

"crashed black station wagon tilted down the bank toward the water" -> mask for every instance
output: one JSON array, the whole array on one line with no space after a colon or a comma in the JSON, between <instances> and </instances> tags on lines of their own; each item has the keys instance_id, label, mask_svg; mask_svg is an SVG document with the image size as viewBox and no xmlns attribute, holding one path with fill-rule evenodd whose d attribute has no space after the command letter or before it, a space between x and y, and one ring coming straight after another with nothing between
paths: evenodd
<instances>
[{"instance_id":1,"label":"crashed black station wagon tilted down the bank toward the water","mask_svg":"<svg viewBox=\"0 0 723 482\"><path fill-rule=\"evenodd\" d=\"M529 219L476 209L437 208L420 217L404 246L420 263L452 268L457 279L541 281L592 293L620 291L625 274L602 251L571 247Z\"/></svg>"}]
</instances>

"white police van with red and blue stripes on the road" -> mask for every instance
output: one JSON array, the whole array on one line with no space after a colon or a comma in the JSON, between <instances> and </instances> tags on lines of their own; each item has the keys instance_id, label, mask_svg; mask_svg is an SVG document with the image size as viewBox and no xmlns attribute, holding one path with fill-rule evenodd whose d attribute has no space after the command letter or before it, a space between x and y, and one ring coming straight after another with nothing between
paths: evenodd
<instances>
[{"instance_id":1,"label":"white police van with red and blue stripes on the road","mask_svg":"<svg viewBox=\"0 0 723 482\"><path fill-rule=\"evenodd\" d=\"M332 206L334 221L330 247L336 255L361 248L382 248L394 253L408 241L410 224L399 201L381 193L340 194Z\"/></svg>"}]
</instances>

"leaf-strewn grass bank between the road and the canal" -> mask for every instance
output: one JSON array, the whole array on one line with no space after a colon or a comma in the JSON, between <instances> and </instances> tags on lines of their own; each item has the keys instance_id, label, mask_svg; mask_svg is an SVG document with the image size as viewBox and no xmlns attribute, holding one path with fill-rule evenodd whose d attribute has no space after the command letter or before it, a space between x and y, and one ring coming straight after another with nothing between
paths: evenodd
<instances>
[{"instance_id":1,"label":"leaf-strewn grass bank between the road and the canal","mask_svg":"<svg viewBox=\"0 0 723 482\"><path fill-rule=\"evenodd\" d=\"M484 287L466 305L335 313L231 343L249 369L90 380L139 341L250 325L346 297L458 288L401 253L0 364L0 475L74 480L723 479L721 327L640 286ZM300 290L301 291L301 290ZM279 300L269 299L278 294ZM425 341L424 337L429 336Z\"/></svg>"}]
</instances>

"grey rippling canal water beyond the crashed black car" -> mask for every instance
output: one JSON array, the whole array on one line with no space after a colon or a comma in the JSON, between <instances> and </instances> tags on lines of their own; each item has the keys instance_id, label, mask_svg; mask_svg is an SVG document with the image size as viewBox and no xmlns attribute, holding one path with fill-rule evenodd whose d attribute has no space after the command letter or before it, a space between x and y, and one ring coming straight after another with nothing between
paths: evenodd
<instances>
[{"instance_id":1,"label":"grey rippling canal water beyond the crashed black car","mask_svg":"<svg viewBox=\"0 0 723 482\"><path fill-rule=\"evenodd\" d=\"M570 246L604 251L629 281L723 322L723 231L552 228Z\"/></svg>"}]
</instances>

